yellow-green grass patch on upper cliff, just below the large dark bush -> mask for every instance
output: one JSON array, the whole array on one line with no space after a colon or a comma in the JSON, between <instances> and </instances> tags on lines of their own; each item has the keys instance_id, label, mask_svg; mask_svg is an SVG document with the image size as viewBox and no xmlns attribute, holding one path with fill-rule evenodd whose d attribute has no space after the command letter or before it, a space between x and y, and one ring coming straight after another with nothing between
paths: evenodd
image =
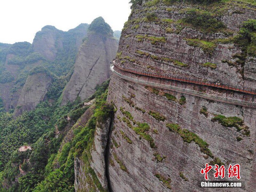
<instances>
[{"instance_id":1,"label":"yellow-green grass patch on upper cliff, just below the large dark bush","mask_svg":"<svg viewBox=\"0 0 256 192\"><path fill-rule=\"evenodd\" d=\"M187 44L194 47L200 47L204 53L212 54L216 48L216 44L208 41L203 41L200 39L185 39Z\"/></svg>"}]
</instances>

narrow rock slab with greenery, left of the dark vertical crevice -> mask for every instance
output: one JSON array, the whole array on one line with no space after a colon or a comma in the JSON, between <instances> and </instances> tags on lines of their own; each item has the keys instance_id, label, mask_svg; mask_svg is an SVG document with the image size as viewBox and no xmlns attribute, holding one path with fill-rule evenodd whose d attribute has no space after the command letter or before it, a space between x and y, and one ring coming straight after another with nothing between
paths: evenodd
<instances>
[{"instance_id":1,"label":"narrow rock slab with greenery, left of the dark vertical crevice","mask_svg":"<svg viewBox=\"0 0 256 192\"><path fill-rule=\"evenodd\" d=\"M108 172L105 164L105 155L109 139L110 124L110 117L105 119L104 122L97 122L93 143L89 147L89 150L86 151L86 156L89 158L75 158L75 191L89 192L91 189L93 189L93 191L108 191Z\"/></svg>"}]
</instances>

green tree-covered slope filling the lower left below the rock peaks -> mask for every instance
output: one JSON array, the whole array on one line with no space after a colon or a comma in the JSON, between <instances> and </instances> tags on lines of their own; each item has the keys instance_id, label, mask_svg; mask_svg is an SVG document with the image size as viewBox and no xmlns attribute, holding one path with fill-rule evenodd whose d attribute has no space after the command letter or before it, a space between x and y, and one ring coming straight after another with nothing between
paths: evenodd
<instances>
[{"instance_id":1,"label":"green tree-covered slope filling the lower left below the rock peaks","mask_svg":"<svg viewBox=\"0 0 256 192\"><path fill-rule=\"evenodd\" d=\"M113 106L106 104L108 84L109 81L97 87L96 93L85 101L94 99L88 105L58 107L41 103L15 120L2 113L0 127L7 125L8 132L14 132L0 141L1 154L8 153L1 158L5 166L0 172L0 191L74 191L74 159L81 158L88 166L87 152L92 147L96 124L113 113ZM9 141L14 141L13 145ZM30 145L31 150L18 151L22 145ZM89 170L93 182L100 186L94 171Z\"/></svg>"}]
</instances>

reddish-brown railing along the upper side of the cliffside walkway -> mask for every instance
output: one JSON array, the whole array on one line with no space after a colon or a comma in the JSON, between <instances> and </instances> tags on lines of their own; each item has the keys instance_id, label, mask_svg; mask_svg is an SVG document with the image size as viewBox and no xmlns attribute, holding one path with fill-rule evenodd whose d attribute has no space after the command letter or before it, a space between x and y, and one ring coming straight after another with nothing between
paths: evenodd
<instances>
[{"instance_id":1,"label":"reddish-brown railing along the upper side of the cliffside walkway","mask_svg":"<svg viewBox=\"0 0 256 192\"><path fill-rule=\"evenodd\" d=\"M138 75L145 75L145 76L150 76L150 77L158 77L158 78L163 78L163 79L170 79L170 80L176 80L176 81L181 81L181 82L194 83L194 84L198 84L198 85L217 87L217 88L228 89L228 90L232 90L232 91L239 91L239 92L243 92L243 93L256 95L256 89L251 89L251 88L247 88L247 87L222 85L222 84L214 83L214 82L204 82L204 81L198 80L198 79L190 79L190 78L174 76L174 75L166 76L166 75L160 75L157 73L145 72L142 70L134 70L134 69L130 69L130 68L126 68L124 66L118 65L118 64L116 64L115 61L113 61L113 64L116 68L118 68L122 71L127 71L127 72L135 73Z\"/></svg>"}]
</instances>

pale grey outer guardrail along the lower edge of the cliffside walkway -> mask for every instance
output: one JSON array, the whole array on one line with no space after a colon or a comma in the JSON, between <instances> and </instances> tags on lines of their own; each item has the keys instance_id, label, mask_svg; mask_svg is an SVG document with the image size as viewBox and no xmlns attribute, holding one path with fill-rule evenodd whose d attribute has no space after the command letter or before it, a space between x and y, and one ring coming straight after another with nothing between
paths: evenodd
<instances>
[{"instance_id":1,"label":"pale grey outer guardrail along the lower edge of the cliffside walkway","mask_svg":"<svg viewBox=\"0 0 256 192\"><path fill-rule=\"evenodd\" d=\"M201 97L204 99L210 99L213 101L224 102L224 103L229 103L229 104L234 104L234 105L239 105L239 106L244 106L244 107L256 108L255 102L233 99L233 98L228 98L228 97L222 97L219 95L212 95L212 94L203 93L203 92L199 92L199 91L195 91L195 90L191 90L191 89L184 89L184 88L175 87L175 86L171 86L171 85L158 84L158 83L154 83L154 82L148 82L145 80L135 79L135 78L120 74L117 71L115 71L113 64L111 65L110 69L118 77L128 80L128 81L131 81L131 82L134 82L134 83L157 87L157 88L168 89L168 90L172 90L172 91L176 91L176 92L180 92L180 93L194 95L194 96Z\"/></svg>"}]
</instances>

